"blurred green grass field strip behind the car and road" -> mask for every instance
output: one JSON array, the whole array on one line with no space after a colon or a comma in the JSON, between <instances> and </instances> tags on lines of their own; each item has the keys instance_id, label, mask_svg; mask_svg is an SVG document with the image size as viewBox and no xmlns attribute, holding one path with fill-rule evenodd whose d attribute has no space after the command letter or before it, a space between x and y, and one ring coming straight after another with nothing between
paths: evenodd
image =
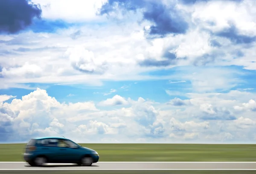
<instances>
[{"instance_id":1,"label":"blurred green grass field strip behind the car and road","mask_svg":"<svg viewBox=\"0 0 256 174\"><path fill-rule=\"evenodd\" d=\"M80 144L99 161L256 161L256 145ZM26 144L0 144L0 161L23 161Z\"/></svg>"}]
</instances>

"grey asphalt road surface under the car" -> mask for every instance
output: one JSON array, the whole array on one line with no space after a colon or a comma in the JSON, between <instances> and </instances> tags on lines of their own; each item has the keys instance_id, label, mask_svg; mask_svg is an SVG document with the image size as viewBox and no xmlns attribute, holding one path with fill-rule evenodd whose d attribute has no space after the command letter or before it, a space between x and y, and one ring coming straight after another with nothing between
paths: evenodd
<instances>
[{"instance_id":1,"label":"grey asphalt road surface under the car","mask_svg":"<svg viewBox=\"0 0 256 174\"><path fill-rule=\"evenodd\" d=\"M98 162L92 166L47 164L44 167L0 162L0 170L256 170L256 162Z\"/></svg>"}]
</instances>

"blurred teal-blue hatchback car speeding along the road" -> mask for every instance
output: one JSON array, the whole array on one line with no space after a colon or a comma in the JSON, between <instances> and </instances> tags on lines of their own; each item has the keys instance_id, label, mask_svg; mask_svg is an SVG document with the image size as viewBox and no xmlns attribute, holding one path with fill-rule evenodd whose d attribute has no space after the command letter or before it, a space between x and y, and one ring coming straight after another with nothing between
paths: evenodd
<instances>
[{"instance_id":1,"label":"blurred teal-blue hatchback car speeding along the road","mask_svg":"<svg viewBox=\"0 0 256 174\"><path fill-rule=\"evenodd\" d=\"M43 166L46 163L76 163L91 166L99 161L99 154L67 138L44 137L29 140L24 160L31 166Z\"/></svg>"}]
</instances>

